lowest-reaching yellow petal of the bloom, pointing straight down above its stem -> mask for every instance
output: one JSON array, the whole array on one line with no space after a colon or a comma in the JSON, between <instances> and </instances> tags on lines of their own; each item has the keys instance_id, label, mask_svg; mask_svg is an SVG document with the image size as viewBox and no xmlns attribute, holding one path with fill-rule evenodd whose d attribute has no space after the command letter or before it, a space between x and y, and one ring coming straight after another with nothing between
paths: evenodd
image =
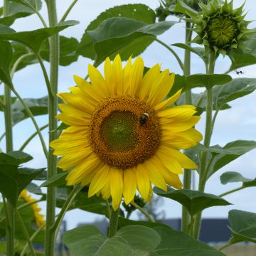
<instances>
[{"instance_id":1,"label":"lowest-reaching yellow petal of the bloom, pointing straight down above its stem","mask_svg":"<svg viewBox=\"0 0 256 256\"><path fill-rule=\"evenodd\" d=\"M123 193L123 171L111 168L110 169L110 192L112 196L112 207L117 210L120 206Z\"/></svg>"}]
</instances>

